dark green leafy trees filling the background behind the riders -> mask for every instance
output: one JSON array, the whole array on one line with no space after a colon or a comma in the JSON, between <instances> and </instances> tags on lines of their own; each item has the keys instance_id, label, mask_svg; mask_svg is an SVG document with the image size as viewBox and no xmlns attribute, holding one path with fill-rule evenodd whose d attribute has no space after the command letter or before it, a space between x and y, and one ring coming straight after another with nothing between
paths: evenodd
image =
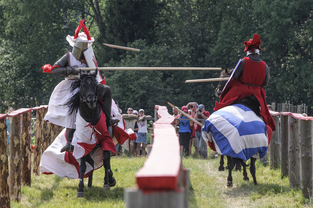
<instances>
[{"instance_id":1,"label":"dark green leafy trees filling the background behind the riders","mask_svg":"<svg viewBox=\"0 0 313 208\"><path fill-rule=\"evenodd\" d=\"M266 102L290 101L313 114L312 0L0 0L0 112L47 105L62 80L42 73L71 47L79 20L95 38L100 67L235 67L243 42L261 36L261 58L270 69ZM126 51L108 43L138 48ZM218 71L102 71L113 99L153 115L154 105L188 102L212 112Z\"/></svg>"}]
</instances>

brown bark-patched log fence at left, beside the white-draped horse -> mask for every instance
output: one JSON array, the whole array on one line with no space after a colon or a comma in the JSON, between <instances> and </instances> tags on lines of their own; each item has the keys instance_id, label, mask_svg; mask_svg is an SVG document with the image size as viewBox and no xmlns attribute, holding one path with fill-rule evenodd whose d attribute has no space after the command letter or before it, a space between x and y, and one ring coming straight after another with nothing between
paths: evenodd
<instances>
[{"instance_id":1,"label":"brown bark-patched log fence at left, beside the white-draped horse","mask_svg":"<svg viewBox=\"0 0 313 208\"><path fill-rule=\"evenodd\" d=\"M9 208L10 201L21 200L21 186L31 185L31 111L36 111L36 135L33 173L39 175L41 151L53 142L63 127L44 122L48 106L21 108L0 114L0 207ZM10 175L7 152L6 117L10 123ZM22 125L21 125L22 119ZM41 150L42 149L42 150Z\"/></svg>"}]
</instances>

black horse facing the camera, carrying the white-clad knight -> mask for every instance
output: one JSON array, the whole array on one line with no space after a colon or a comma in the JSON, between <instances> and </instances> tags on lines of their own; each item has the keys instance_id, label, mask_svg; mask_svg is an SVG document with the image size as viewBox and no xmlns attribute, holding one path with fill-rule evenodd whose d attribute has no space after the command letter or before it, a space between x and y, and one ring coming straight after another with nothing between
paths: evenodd
<instances>
[{"instance_id":1,"label":"black horse facing the camera, carrying the white-clad knight","mask_svg":"<svg viewBox=\"0 0 313 208\"><path fill-rule=\"evenodd\" d=\"M98 70L96 69L93 73L85 73L80 70L80 74L75 77L75 81L71 85L71 89L74 91L79 88L80 90L71 97L66 105L69 107L69 112L79 111L80 116L90 125L94 126L98 123L101 116L102 104L98 100L99 97L103 97L102 90L99 90L99 87L102 84L99 84L96 80L96 75ZM100 108L101 107L101 108ZM107 114L108 112L106 112ZM109 112L110 113L110 112ZM110 116L106 115L106 126L108 126L108 119ZM77 128L77 127L76 127ZM112 127L108 128L110 136L112 136ZM100 143L96 145L95 148L101 148ZM95 148L86 156L80 158L80 183L79 189L77 191L76 197L85 197L84 193L84 175L86 171L86 162L89 163L92 168L94 168L94 161L91 158L90 154L95 151ZM103 150L103 149L102 149ZM110 187L114 187L116 180L113 177L113 172L110 166L110 151L103 150L103 167L105 168L105 177L104 177L104 190L109 190ZM93 171L88 178L87 188L92 186L92 175Z\"/></svg>"}]
</instances>

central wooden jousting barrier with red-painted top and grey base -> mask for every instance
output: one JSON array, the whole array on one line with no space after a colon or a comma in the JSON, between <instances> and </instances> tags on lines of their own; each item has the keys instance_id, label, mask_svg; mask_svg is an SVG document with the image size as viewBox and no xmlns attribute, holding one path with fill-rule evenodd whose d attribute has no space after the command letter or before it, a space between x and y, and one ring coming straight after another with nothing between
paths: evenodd
<instances>
[{"instance_id":1,"label":"central wooden jousting barrier with red-painted top and grey base","mask_svg":"<svg viewBox=\"0 0 313 208\"><path fill-rule=\"evenodd\" d=\"M126 208L187 208L189 170L182 167L182 149L165 106L155 106L153 144L144 166L136 173L137 188L125 190ZM164 154L166 153L166 154ZM171 159L169 159L171 158Z\"/></svg>"}]
</instances>

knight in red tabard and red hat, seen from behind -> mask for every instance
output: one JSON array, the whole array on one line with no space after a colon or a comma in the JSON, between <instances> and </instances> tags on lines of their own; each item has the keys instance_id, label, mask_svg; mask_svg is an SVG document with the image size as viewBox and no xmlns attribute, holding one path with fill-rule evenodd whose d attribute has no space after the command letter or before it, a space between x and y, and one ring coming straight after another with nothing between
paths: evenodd
<instances>
[{"instance_id":1,"label":"knight in red tabard and red hat, seen from behind","mask_svg":"<svg viewBox=\"0 0 313 208\"><path fill-rule=\"evenodd\" d=\"M240 60L231 80L220 95L220 102L215 103L214 110L234 104L245 105L262 117L268 134L271 135L269 129L275 131L275 122L269 114L263 88L269 82L269 67L260 59L260 44L258 34L254 34L253 39L244 41L247 57Z\"/></svg>"}]
</instances>

